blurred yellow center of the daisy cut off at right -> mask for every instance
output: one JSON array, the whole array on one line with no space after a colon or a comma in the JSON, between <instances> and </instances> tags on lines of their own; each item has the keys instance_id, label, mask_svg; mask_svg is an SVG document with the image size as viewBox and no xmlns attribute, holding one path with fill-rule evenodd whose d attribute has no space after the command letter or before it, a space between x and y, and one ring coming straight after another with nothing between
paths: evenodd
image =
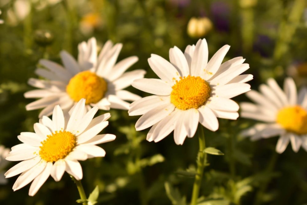
<instances>
[{"instance_id":1,"label":"blurred yellow center of the daisy cut off at right","mask_svg":"<svg viewBox=\"0 0 307 205\"><path fill-rule=\"evenodd\" d=\"M307 112L301 106L282 108L277 114L276 121L287 131L307 134Z\"/></svg>"}]
</instances>

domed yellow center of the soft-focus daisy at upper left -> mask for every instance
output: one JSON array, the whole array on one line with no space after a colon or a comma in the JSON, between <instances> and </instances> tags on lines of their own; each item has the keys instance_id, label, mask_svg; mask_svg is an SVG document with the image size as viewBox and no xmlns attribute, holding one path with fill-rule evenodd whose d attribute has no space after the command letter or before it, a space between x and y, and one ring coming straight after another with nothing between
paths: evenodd
<instances>
[{"instance_id":1,"label":"domed yellow center of the soft-focus daisy at upper left","mask_svg":"<svg viewBox=\"0 0 307 205\"><path fill-rule=\"evenodd\" d=\"M107 82L90 71L83 71L72 77L66 87L72 100L85 98L85 104L97 103L107 92Z\"/></svg>"}]
</instances>

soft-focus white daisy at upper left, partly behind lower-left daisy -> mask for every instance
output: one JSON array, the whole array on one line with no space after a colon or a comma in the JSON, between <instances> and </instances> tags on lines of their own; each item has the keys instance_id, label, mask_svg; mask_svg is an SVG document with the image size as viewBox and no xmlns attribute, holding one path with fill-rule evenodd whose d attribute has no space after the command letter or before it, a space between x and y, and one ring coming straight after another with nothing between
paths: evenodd
<instances>
[{"instance_id":1,"label":"soft-focus white daisy at upper left, partly behind lower-left daisy","mask_svg":"<svg viewBox=\"0 0 307 205\"><path fill-rule=\"evenodd\" d=\"M87 43L80 43L78 49L78 62L67 52L60 53L64 67L45 59L39 61L46 69L38 68L35 73L47 80L29 79L29 85L39 89L26 92L25 97L41 99L28 104L27 110L44 108L39 117L49 116L56 104L62 109L69 109L81 98L86 99L87 110L91 106L98 106L103 110L128 110L129 103L125 100L135 101L141 98L122 90L146 73L144 70L125 73L138 61L136 56L127 57L115 64L122 44L113 46L111 41L107 41L98 57L95 38Z\"/></svg>"}]
</instances>

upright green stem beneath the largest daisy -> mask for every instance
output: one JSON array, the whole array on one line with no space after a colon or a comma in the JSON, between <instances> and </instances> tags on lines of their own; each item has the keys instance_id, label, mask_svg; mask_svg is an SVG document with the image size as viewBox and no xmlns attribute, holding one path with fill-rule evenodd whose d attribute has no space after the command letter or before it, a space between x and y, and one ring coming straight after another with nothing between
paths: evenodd
<instances>
[{"instance_id":1,"label":"upright green stem beneath the largest daisy","mask_svg":"<svg viewBox=\"0 0 307 205\"><path fill-rule=\"evenodd\" d=\"M191 205L196 205L201 185L201 179L203 178L204 168L207 164L207 153L203 152L206 148L203 126L200 125L198 131L199 152L197 156L197 171L193 184Z\"/></svg>"}]
</instances>

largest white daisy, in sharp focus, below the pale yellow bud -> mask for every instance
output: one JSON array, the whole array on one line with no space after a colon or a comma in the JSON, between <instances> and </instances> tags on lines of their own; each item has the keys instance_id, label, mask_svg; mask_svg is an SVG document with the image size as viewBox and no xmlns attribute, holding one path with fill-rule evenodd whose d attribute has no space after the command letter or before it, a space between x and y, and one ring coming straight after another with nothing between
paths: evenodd
<instances>
[{"instance_id":1,"label":"largest white daisy, in sharp focus, below the pale yellow bud","mask_svg":"<svg viewBox=\"0 0 307 205\"><path fill-rule=\"evenodd\" d=\"M130 116L143 115L136 130L150 126L148 141L158 142L174 130L176 144L186 136L193 137L198 122L211 131L219 128L217 117L235 120L239 105L230 98L250 90L250 74L240 75L249 68L242 57L224 62L229 45L219 49L208 62L208 46L200 39L196 46L188 45L185 53L176 46L169 50L170 62L152 54L151 69L160 79L138 79L137 89L154 95L133 102Z\"/></svg>"}]
</instances>

